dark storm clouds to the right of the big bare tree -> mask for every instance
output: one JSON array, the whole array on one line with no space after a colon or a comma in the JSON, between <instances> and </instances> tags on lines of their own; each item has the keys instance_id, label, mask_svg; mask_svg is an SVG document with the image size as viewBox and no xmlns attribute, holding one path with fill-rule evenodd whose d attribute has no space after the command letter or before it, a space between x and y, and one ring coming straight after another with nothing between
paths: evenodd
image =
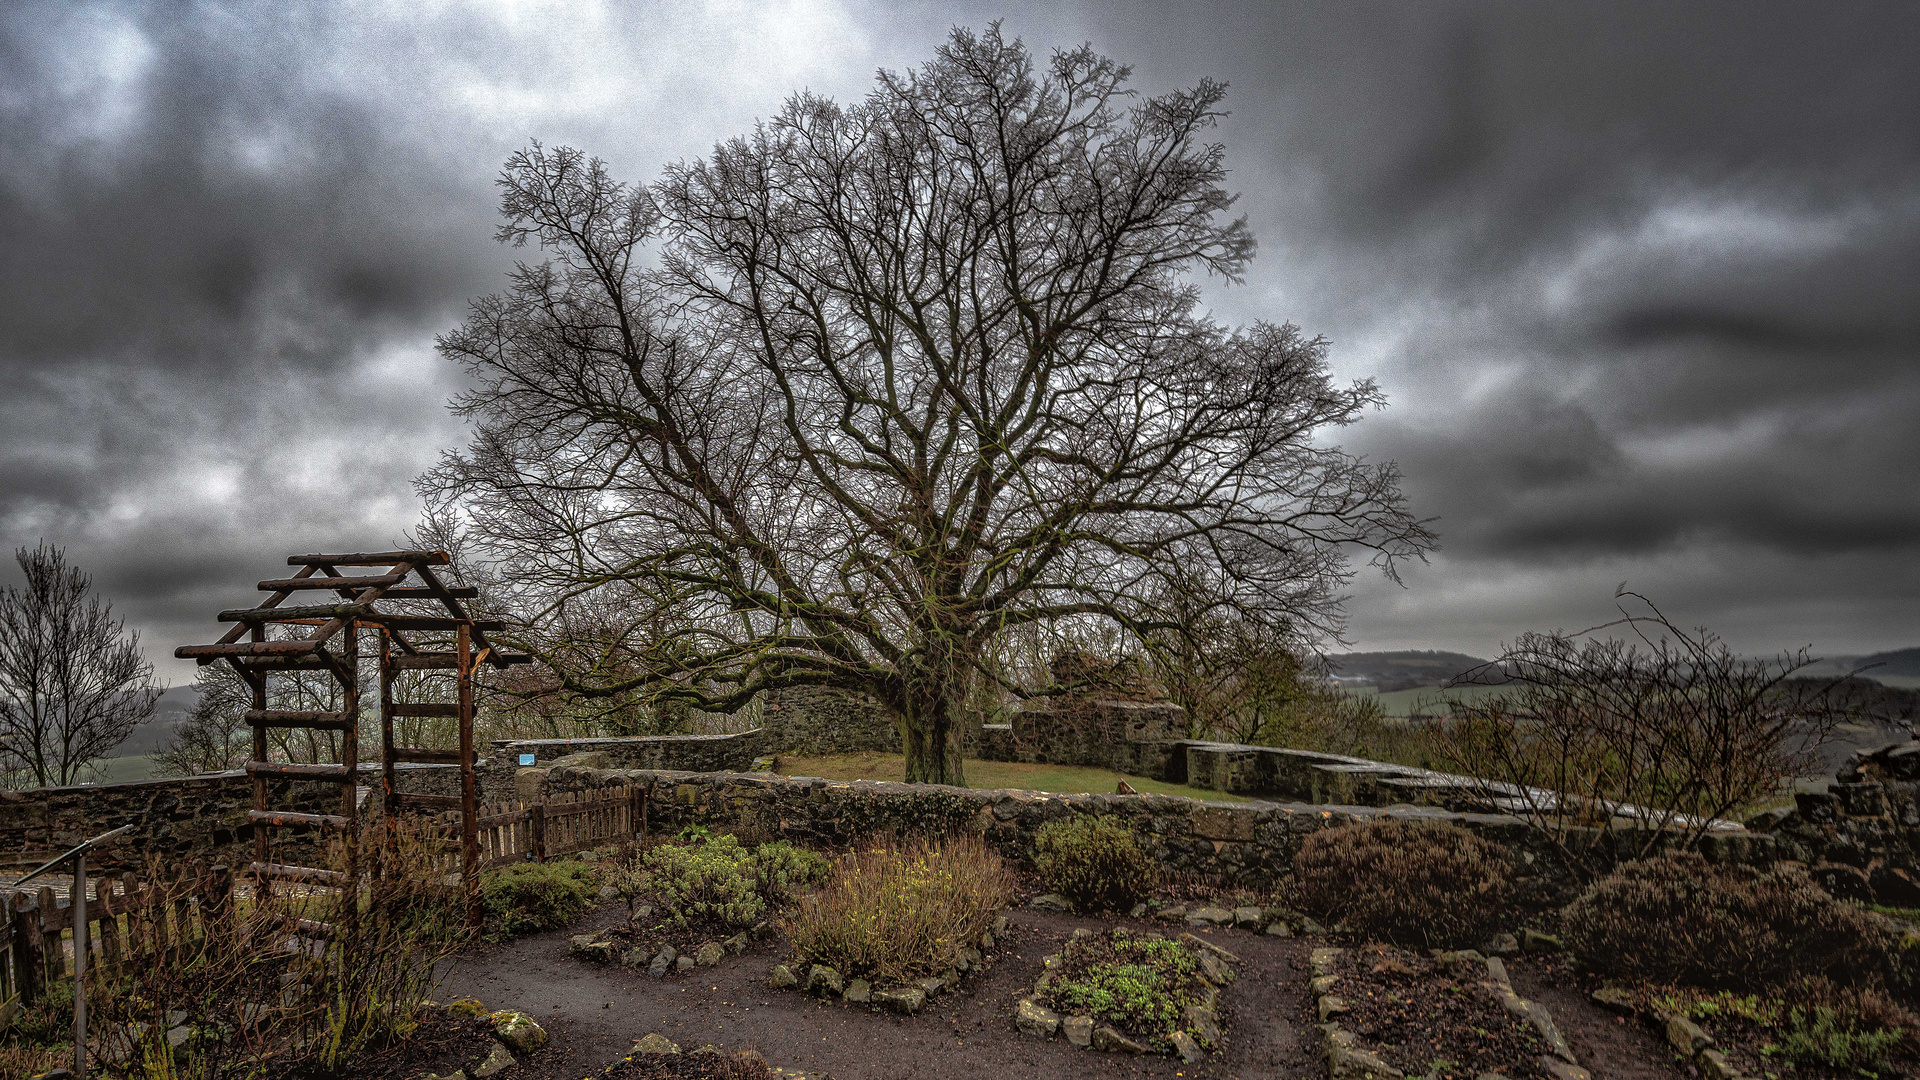
<instances>
[{"instance_id":1,"label":"dark storm clouds to the right of the big bare tree","mask_svg":"<svg viewBox=\"0 0 1920 1080\"><path fill-rule=\"evenodd\" d=\"M1261 256L1221 309L1377 375L1392 407L1340 438L1438 517L1409 592L1356 580L1363 644L1622 578L1736 636L1920 636L1920 8L1162 12L1092 37L1233 85Z\"/></svg>"}]
</instances>

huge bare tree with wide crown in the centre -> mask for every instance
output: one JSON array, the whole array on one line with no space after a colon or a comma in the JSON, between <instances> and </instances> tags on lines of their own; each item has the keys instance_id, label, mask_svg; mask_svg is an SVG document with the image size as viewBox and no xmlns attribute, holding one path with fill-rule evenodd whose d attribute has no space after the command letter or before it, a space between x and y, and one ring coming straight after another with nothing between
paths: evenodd
<instances>
[{"instance_id":1,"label":"huge bare tree with wide crown in the centre","mask_svg":"<svg viewBox=\"0 0 1920 1080\"><path fill-rule=\"evenodd\" d=\"M616 590L641 671L555 665L570 690L858 688L908 780L964 782L996 634L1152 628L1144 598L1188 567L1252 619L1334 630L1344 548L1423 553L1392 465L1321 440L1373 382L1200 304L1192 275L1254 250L1206 140L1225 86L1135 100L1127 77L960 29L653 186L515 154L499 236L549 261L442 338L478 432L422 490L511 557L522 644L551 659L541 626Z\"/></svg>"}]
</instances>

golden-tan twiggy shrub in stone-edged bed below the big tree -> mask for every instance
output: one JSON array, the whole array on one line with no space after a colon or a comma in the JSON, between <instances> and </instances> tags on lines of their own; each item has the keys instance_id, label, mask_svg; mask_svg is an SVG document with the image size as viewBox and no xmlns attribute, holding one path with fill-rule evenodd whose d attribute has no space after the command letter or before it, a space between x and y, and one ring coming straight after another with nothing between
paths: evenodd
<instances>
[{"instance_id":1,"label":"golden-tan twiggy shrub in stone-edged bed below the big tree","mask_svg":"<svg viewBox=\"0 0 1920 1080\"><path fill-rule=\"evenodd\" d=\"M904 982L958 967L1014 897L1014 874L975 836L883 842L843 855L785 922L804 963Z\"/></svg>"}]
</instances>

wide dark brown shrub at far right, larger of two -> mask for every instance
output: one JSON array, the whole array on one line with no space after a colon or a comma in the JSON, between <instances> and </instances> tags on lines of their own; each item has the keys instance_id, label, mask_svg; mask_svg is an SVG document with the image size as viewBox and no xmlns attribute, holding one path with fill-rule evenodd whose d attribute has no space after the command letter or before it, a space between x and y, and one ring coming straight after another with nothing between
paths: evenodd
<instances>
[{"instance_id":1,"label":"wide dark brown shrub at far right, larger of two","mask_svg":"<svg viewBox=\"0 0 1920 1080\"><path fill-rule=\"evenodd\" d=\"M1626 863L1563 919L1567 945L1601 974L1764 992L1824 976L1887 978L1893 932L1797 867L1718 867L1697 851Z\"/></svg>"}]
</instances>

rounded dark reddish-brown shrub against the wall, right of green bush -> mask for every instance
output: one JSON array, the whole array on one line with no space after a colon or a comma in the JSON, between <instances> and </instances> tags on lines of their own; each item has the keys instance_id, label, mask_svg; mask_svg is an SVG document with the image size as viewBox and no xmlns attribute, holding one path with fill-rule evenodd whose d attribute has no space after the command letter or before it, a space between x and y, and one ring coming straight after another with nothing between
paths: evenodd
<instances>
[{"instance_id":1,"label":"rounded dark reddish-brown shrub against the wall, right of green bush","mask_svg":"<svg viewBox=\"0 0 1920 1080\"><path fill-rule=\"evenodd\" d=\"M1513 892L1505 847L1430 821L1315 832L1300 842L1294 876L1308 911L1417 947L1478 944Z\"/></svg>"}]
</instances>

